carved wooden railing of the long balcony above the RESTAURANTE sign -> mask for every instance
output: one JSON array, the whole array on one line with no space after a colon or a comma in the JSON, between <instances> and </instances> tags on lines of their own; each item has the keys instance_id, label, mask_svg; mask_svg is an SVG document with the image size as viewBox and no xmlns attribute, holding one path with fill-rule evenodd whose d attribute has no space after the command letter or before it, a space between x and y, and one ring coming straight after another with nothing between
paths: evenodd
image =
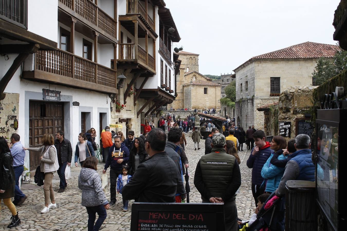
<instances>
[{"instance_id":1,"label":"carved wooden railing of the long balcony above the RESTAURANTE sign","mask_svg":"<svg viewBox=\"0 0 347 231\"><path fill-rule=\"evenodd\" d=\"M66 51L37 51L35 70L116 88L116 71Z\"/></svg>"}]
</instances>

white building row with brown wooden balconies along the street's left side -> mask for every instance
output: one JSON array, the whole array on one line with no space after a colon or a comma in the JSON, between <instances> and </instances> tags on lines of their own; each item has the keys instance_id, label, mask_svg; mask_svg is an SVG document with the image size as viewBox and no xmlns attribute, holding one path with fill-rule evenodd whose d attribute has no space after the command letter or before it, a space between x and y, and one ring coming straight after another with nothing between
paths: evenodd
<instances>
[{"instance_id":1,"label":"white building row with brown wooden balconies along the street's left side","mask_svg":"<svg viewBox=\"0 0 347 231\"><path fill-rule=\"evenodd\" d=\"M180 37L163 0L16 4L0 10L0 135L17 132L39 147L43 134L63 130L74 151L91 127L98 143L109 124L140 135L145 118L156 120L158 106L174 100ZM27 151L25 166L35 170L39 156Z\"/></svg>"}]
</instances>

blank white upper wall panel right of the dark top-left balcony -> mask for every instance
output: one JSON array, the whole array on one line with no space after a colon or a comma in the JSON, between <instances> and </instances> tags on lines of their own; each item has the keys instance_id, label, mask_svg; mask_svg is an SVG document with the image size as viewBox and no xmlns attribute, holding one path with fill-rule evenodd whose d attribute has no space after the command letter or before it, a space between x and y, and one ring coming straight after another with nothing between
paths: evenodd
<instances>
[{"instance_id":1,"label":"blank white upper wall panel right of the dark top-left balcony","mask_svg":"<svg viewBox=\"0 0 347 231\"><path fill-rule=\"evenodd\" d=\"M57 25L58 0L28 1L28 31L58 42Z\"/></svg>"}]
</instances>

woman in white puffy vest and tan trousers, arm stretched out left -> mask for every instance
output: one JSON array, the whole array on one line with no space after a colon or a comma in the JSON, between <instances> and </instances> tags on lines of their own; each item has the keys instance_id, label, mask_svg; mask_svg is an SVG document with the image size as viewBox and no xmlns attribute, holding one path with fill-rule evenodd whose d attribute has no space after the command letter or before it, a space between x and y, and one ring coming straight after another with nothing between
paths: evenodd
<instances>
[{"instance_id":1,"label":"woman in white puffy vest and tan trousers, arm stretched out left","mask_svg":"<svg viewBox=\"0 0 347 231\"><path fill-rule=\"evenodd\" d=\"M54 191L52 187L53 174L58 170L58 156L57 149L54 146L54 137L52 134L44 134L42 136L43 146L41 148L24 148L24 150L41 152L41 172L44 172L44 201L45 206L41 210L41 213L46 213L50 208L56 208L56 200L54 198ZM51 203L49 203L51 199Z\"/></svg>"}]
</instances>

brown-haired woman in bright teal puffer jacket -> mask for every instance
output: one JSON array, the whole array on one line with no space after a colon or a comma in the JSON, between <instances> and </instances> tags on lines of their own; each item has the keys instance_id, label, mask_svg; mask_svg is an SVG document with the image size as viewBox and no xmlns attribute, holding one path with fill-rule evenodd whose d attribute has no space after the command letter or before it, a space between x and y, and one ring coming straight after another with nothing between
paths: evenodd
<instances>
[{"instance_id":1,"label":"brown-haired woman in bright teal puffer jacket","mask_svg":"<svg viewBox=\"0 0 347 231\"><path fill-rule=\"evenodd\" d=\"M273 150L273 152L271 153L269 159L266 161L261 170L261 176L264 178L262 187L265 186L265 192L271 194L278 188L278 185L280 184L281 178L284 173L284 168L274 166L270 163L270 161L274 153L279 154L279 160L286 159L287 157L283 155L283 149L285 149L286 147L287 142L282 136L277 135L273 137L270 143L270 148Z\"/></svg>"}]
</instances>

